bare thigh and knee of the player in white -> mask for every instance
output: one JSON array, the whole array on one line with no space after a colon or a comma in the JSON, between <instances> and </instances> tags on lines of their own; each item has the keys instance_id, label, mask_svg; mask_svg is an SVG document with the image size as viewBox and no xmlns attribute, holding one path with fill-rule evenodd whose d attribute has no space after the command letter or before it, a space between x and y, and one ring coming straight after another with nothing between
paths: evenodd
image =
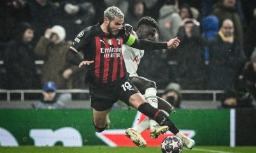
<instances>
[{"instance_id":1,"label":"bare thigh and knee of the player in white","mask_svg":"<svg viewBox=\"0 0 256 153\"><path fill-rule=\"evenodd\" d=\"M152 80L148 80L144 77L131 77L132 84L134 84L141 93L144 93L146 89L150 87L156 88L156 83Z\"/></svg>"}]
</instances>

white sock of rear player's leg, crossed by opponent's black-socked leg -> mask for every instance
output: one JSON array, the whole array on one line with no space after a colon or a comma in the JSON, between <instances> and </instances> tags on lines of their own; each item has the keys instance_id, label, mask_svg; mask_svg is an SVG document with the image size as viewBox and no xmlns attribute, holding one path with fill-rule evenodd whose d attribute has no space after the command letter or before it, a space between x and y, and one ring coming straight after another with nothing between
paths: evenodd
<instances>
[{"instance_id":1,"label":"white sock of rear player's leg, crossed by opponent's black-socked leg","mask_svg":"<svg viewBox=\"0 0 256 153\"><path fill-rule=\"evenodd\" d=\"M156 97L156 88L148 88L145 91L145 99L147 100L147 102L153 106L154 108L158 108L157 106L157 97ZM153 119L149 119L150 122L150 129L154 128L154 126L158 126L159 124L153 120Z\"/></svg>"}]
</instances>

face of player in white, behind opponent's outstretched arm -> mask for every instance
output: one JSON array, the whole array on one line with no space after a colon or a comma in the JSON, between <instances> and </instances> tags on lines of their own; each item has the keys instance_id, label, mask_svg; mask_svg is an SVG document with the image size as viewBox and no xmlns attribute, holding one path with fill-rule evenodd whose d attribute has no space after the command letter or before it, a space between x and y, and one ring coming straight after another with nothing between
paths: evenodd
<instances>
[{"instance_id":1,"label":"face of player in white, behind opponent's outstretched arm","mask_svg":"<svg viewBox=\"0 0 256 153\"><path fill-rule=\"evenodd\" d=\"M141 29L138 29L138 38L139 40L153 40L153 37L156 34L156 28L152 27L151 25L146 26L142 25Z\"/></svg>"}]
</instances>

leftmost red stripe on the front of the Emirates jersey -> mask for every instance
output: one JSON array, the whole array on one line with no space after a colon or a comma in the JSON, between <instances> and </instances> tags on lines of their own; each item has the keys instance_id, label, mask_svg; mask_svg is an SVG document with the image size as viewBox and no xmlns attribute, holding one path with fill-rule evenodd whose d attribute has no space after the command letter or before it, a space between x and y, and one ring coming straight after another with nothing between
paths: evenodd
<instances>
[{"instance_id":1,"label":"leftmost red stripe on the front of the Emirates jersey","mask_svg":"<svg viewBox=\"0 0 256 153\"><path fill-rule=\"evenodd\" d=\"M100 38L98 36L95 37L96 43L96 52L95 52L95 77L100 77Z\"/></svg>"}]
</instances>

